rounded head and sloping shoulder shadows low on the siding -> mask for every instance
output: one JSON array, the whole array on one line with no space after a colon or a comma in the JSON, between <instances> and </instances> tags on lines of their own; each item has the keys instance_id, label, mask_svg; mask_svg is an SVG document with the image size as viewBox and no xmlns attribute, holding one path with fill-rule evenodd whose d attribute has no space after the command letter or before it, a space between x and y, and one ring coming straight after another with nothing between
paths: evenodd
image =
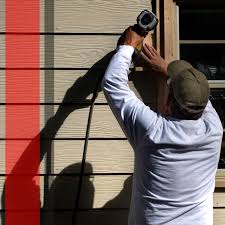
<instances>
[{"instance_id":1,"label":"rounded head and sloping shoulder shadows low on the siding","mask_svg":"<svg viewBox=\"0 0 225 225\"><path fill-rule=\"evenodd\" d=\"M73 212L74 202L77 197L78 176L65 176L68 173L79 173L80 163L66 167L54 179L49 190L49 198L52 199L51 214L42 214L41 225L71 225L73 213L76 213L77 225L126 225L128 219L128 207L131 197L132 177L126 179L121 192L102 208L93 209L95 188L92 183L93 175L85 175L82 185L79 209ZM86 162L86 172L92 173L92 166ZM63 176L64 175L64 176Z\"/></svg>"}]
</instances>

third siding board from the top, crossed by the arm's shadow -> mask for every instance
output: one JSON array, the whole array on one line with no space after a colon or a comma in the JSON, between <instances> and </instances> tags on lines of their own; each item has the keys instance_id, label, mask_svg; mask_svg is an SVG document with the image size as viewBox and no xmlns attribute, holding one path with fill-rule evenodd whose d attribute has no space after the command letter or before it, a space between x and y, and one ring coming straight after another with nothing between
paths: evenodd
<instances>
[{"instance_id":1,"label":"third siding board from the top, crossed by the arm's shadow","mask_svg":"<svg viewBox=\"0 0 225 225\"><path fill-rule=\"evenodd\" d=\"M90 102L96 86L101 83L100 77L103 73L104 71L98 70L42 70L40 71L40 103L62 103L69 88L72 90L72 103ZM32 85L30 79L23 80L27 82L25 85ZM132 71L129 87L139 99L151 105L156 104L156 78L151 76L150 72ZM20 91L23 93L23 90ZM107 103L101 89L98 91L95 102ZM19 96L21 93L12 94ZM29 103L33 102L35 100L31 97ZM5 70L0 70L0 103L5 103Z\"/></svg>"}]
</instances>

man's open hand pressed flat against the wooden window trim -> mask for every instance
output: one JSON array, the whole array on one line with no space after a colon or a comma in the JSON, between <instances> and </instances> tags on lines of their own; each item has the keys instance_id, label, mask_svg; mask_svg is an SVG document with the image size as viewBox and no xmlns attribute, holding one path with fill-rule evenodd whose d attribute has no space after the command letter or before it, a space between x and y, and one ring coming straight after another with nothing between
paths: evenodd
<instances>
[{"instance_id":1,"label":"man's open hand pressed flat against the wooden window trim","mask_svg":"<svg viewBox=\"0 0 225 225\"><path fill-rule=\"evenodd\" d=\"M167 74L168 63L159 55L159 53L148 44L143 46L142 52L144 53L144 59L147 61L150 68L156 72L163 74L165 77Z\"/></svg>"}]
</instances>

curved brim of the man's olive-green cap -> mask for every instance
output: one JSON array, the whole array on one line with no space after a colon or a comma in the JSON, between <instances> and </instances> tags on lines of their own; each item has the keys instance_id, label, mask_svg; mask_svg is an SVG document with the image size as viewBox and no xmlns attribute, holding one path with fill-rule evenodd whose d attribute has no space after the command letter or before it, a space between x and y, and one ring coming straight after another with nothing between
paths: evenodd
<instances>
[{"instance_id":1,"label":"curved brim of the man's olive-green cap","mask_svg":"<svg viewBox=\"0 0 225 225\"><path fill-rule=\"evenodd\" d=\"M168 65L167 72L169 77L175 78L182 71L192 68L193 66L185 60L175 60Z\"/></svg>"}]
</instances>

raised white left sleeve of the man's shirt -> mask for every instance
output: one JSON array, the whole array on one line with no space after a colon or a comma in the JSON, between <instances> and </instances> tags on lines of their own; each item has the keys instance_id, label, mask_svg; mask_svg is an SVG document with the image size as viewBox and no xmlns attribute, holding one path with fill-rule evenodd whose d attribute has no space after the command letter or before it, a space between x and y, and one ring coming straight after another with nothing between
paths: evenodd
<instances>
[{"instance_id":1,"label":"raised white left sleeve of the man's shirt","mask_svg":"<svg viewBox=\"0 0 225 225\"><path fill-rule=\"evenodd\" d=\"M128 86L128 73L134 48L121 45L111 59L102 81L102 90L121 128L137 147L159 116L140 101Z\"/></svg>"}]
</instances>

